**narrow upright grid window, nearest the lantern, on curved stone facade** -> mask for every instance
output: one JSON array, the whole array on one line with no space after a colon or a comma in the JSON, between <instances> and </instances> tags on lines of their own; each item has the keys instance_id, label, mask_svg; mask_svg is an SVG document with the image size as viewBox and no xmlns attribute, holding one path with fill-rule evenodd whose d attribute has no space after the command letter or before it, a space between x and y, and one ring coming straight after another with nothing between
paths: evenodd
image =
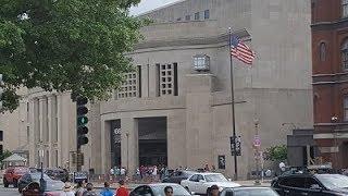
<instances>
[{"instance_id":1,"label":"narrow upright grid window, nearest the lantern, on curved stone facade","mask_svg":"<svg viewBox=\"0 0 348 196\"><path fill-rule=\"evenodd\" d=\"M174 64L160 65L160 95L174 94Z\"/></svg>"}]
</instances>

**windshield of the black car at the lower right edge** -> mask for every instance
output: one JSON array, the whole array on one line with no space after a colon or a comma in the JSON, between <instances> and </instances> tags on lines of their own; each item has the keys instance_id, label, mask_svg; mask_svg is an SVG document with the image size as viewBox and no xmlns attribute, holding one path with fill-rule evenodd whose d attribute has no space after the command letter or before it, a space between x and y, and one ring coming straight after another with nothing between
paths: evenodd
<instances>
[{"instance_id":1,"label":"windshield of the black car at the lower right edge","mask_svg":"<svg viewBox=\"0 0 348 196\"><path fill-rule=\"evenodd\" d=\"M348 176L339 174L319 174L315 177L330 189L348 188Z\"/></svg>"}]
</instances>

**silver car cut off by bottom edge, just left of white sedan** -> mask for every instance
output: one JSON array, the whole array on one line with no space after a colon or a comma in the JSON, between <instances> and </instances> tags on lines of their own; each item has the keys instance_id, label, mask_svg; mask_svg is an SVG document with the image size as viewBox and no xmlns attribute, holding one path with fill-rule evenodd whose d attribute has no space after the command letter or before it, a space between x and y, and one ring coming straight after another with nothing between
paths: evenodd
<instances>
[{"instance_id":1,"label":"silver car cut off by bottom edge, just left of white sedan","mask_svg":"<svg viewBox=\"0 0 348 196\"><path fill-rule=\"evenodd\" d=\"M129 196L164 196L164 187L173 187L173 196L189 196L183 186L174 183L158 183L158 184L147 184L136 187L130 192Z\"/></svg>"}]
</instances>

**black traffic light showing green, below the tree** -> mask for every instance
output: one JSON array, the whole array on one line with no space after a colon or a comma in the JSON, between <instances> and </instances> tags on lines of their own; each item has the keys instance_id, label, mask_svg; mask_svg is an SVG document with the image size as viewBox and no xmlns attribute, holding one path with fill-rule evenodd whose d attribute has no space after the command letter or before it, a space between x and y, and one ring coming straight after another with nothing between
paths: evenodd
<instances>
[{"instance_id":1,"label":"black traffic light showing green, below the tree","mask_svg":"<svg viewBox=\"0 0 348 196\"><path fill-rule=\"evenodd\" d=\"M80 146L88 144L88 137L86 134L88 133L88 118L86 114L88 113L88 108L86 105L88 103L88 99L85 97L77 97L76 99L76 115L77 115L77 148Z\"/></svg>"}]
</instances>

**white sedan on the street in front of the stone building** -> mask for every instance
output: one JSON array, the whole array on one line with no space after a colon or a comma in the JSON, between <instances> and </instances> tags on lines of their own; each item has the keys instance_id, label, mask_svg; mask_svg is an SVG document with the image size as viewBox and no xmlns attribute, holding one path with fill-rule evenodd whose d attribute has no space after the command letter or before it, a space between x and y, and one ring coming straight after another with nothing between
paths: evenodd
<instances>
[{"instance_id":1,"label":"white sedan on the street in front of the stone building","mask_svg":"<svg viewBox=\"0 0 348 196\"><path fill-rule=\"evenodd\" d=\"M217 185L220 192L226 187L240 186L240 184L227 181L221 173L196 173L189 179L182 181L181 184L187 191L195 192L196 194L208 194L212 185Z\"/></svg>"}]
</instances>

